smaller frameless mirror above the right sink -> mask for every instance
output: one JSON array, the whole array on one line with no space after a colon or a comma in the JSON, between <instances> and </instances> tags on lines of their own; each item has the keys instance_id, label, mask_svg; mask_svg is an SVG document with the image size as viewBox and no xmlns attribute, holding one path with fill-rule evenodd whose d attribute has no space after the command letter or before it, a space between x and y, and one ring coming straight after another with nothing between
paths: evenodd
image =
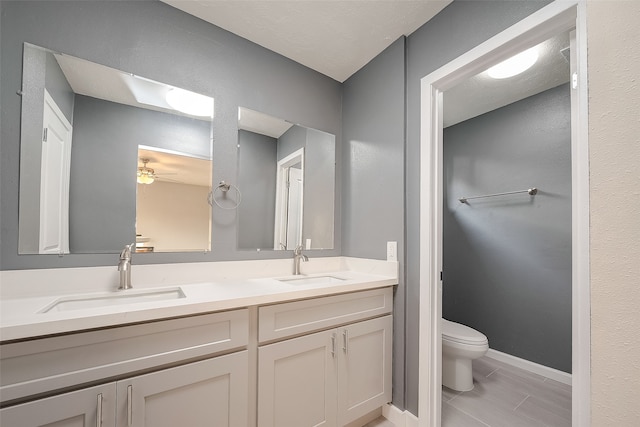
<instances>
[{"instance_id":1,"label":"smaller frameless mirror above the right sink","mask_svg":"<svg viewBox=\"0 0 640 427\"><path fill-rule=\"evenodd\" d=\"M333 248L335 136L238 109L238 248Z\"/></svg>"}]
</instances>

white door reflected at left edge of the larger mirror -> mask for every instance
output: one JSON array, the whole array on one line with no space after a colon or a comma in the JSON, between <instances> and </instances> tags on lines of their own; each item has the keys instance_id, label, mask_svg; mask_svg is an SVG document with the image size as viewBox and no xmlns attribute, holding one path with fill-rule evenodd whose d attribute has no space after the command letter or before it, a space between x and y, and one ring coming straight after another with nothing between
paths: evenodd
<instances>
[{"instance_id":1,"label":"white door reflected at left edge of the larger mirror","mask_svg":"<svg viewBox=\"0 0 640 427\"><path fill-rule=\"evenodd\" d=\"M69 253L72 128L46 90L42 121L39 253Z\"/></svg>"}]
</instances>

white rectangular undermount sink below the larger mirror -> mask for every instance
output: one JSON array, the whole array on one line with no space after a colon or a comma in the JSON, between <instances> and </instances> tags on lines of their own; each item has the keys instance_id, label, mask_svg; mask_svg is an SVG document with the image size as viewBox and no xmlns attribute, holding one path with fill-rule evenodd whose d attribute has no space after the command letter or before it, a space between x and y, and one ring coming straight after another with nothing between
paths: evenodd
<instances>
[{"instance_id":1,"label":"white rectangular undermount sink below the larger mirror","mask_svg":"<svg viewBox=\"0 0 640 427\"><path fill-rule=\"evenodd\" d=\"M95 295L62 297L40 310L40 313L112 307L141 302L157 302L184 298L181 288L154 289L148 291L109 292Z\"/></svg>"}]
</instances>

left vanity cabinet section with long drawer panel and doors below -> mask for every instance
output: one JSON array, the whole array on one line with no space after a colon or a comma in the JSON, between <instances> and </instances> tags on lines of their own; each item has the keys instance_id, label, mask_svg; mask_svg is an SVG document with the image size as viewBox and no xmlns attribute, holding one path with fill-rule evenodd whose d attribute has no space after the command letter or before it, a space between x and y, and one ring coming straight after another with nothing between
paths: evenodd
<instances>
[{"instance_id":1,"label":"left vanity cabinet section with long drawer panel and doors below","mask_svg":"<svg viewBox=\"0 0 640 427\"><path fill-rule=\"evenodd\" d=\"M3 405L30 401L0 424L246 426L248 330L241 309L3 344Z\"/></svg>"}]
</instances>

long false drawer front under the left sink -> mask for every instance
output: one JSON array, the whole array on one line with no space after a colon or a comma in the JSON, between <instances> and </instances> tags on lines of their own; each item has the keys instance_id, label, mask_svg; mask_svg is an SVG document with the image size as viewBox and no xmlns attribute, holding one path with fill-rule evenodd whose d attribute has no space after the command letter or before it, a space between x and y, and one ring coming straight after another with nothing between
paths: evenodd
<instances>
[{"instance_id":1,"label":"long false drawer front under the left sink","mask_svg":"<svg viewBox=\"0 0 640 427\"><path fill-rule=\"evenodd\" d=\"M2 401L230 352L248 335L242 309L5 344Z\"/></svg>"}]
</instances>

